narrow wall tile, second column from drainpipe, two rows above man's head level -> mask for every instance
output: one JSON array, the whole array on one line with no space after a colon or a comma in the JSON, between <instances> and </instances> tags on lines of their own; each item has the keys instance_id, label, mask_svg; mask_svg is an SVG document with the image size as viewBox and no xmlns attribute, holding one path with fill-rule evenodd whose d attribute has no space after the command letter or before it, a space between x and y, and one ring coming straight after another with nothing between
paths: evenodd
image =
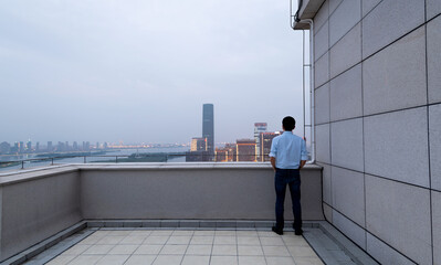
<instances>
[{"instance_id":1,"label":"narrow wall tile, second column from drainpipe, two rows above man's head level","mask_svg":"<svg viewBox=\"0 0 441 265\"><path fill-rule=\"evenodd\" d=\"M361 62L361 25L358 23L330 49L330 78L359 62Z\"/></svg>"}]
</instances>

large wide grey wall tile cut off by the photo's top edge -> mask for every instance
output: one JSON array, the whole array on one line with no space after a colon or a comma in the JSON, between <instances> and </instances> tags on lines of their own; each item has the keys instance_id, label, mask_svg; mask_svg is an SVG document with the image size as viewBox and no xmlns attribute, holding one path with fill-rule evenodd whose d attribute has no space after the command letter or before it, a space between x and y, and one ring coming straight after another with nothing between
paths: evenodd
<instances>
[{"instance_id":1,"label":"large wide grey wall tile cut off by the photo's top edge","mask_svg":"<svg viewBox=\"0 0 441 265\"><path fill-rule=\"evenodd\" d=\"M424 22L424 0L382 1L363 20L363 57Z\"/></svg>"}]
</instances>

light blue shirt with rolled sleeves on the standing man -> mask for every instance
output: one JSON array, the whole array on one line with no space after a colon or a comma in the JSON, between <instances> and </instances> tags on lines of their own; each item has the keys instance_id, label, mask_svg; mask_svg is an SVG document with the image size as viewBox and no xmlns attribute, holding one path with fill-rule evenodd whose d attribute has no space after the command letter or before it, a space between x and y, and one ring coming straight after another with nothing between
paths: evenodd
<instances>
[{"instance_id":1,"label":"light blue shirt with rolled sleeves on the standing man","mask_svg":"<svg viewBox=\"0 0 441 265\"><path fill-rule=\"evenodd\" d=\"M270 157L275 158L275 167L280 169L298 169L301 160L307 160L306 144L292 131L284 131L274 137Z\"/></svg>"}]
</instances>

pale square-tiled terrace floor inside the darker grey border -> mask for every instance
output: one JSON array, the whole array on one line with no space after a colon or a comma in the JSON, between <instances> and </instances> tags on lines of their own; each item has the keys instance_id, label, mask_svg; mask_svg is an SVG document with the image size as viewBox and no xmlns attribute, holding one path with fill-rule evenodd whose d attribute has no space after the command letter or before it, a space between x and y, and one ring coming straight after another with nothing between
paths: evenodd
<instances>
[{"instance_id":1,"label":"pale square-tiled terrace floor inside the darker grey border","mask_svg":"<svg viewBox=\"0 0 441 265\"><path fill-rule=\"evenodd\" d=\"M98 230L48 264L323 264L302 236L228 230Z\"/></svg>"}]
</instances>

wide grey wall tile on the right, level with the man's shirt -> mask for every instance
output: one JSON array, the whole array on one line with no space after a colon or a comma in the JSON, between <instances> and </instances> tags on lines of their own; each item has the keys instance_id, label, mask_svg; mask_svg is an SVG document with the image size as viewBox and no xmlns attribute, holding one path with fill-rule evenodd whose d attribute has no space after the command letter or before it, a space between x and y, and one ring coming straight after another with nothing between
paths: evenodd
<instances>
[{"instance_id":1,"label":"wide grey wall tile on the right, level with the man's shirt","mask_svg":"<svg viewBox=\"0 0 441 265\"><path fill-rule=\"evenodd\" d=\"M365 171L429 188L427 107L365 117Z\"/></svg>"}]
</instances>

